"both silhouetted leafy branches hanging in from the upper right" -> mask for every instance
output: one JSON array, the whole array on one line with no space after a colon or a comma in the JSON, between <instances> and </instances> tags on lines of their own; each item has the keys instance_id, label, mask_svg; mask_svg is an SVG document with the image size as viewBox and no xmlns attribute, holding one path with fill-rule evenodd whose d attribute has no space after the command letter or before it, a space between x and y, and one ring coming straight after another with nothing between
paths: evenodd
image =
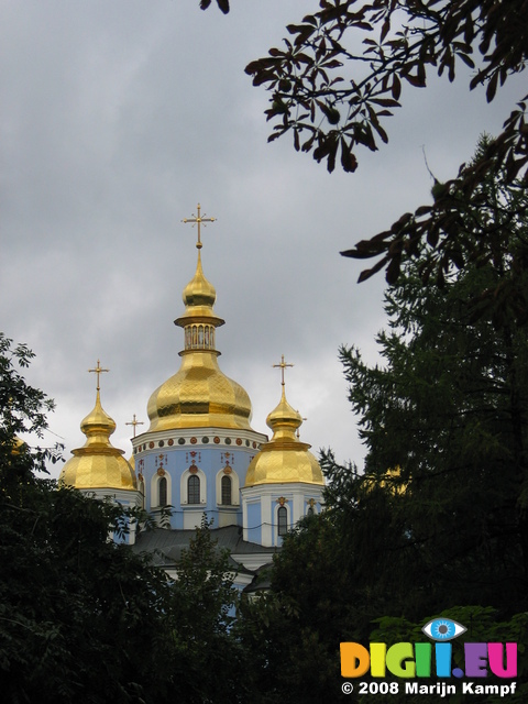
<instances>
[{"instance_id":1,"label":"both silhouetted leafy branches hanging in from the upper right","mask_svg":"<svg viewBox=\"0 0 528 704\"><path fill-rule=\"evenodd\" d=\"M461 61L476 66L470 89L484 86L492 101L528 59L526 0L324 0L287 31L283 48L270 50L245 70L253 85L272 94L265 111L273 123L270 141L292 131L295 148L311 152L329 172L338 161L343 170L354 172L360 147L376 151L380 142L387 142L385 121L400 105L403 82L425 88L431 70L453 81ZM499 173L519 188L528 187L527 99L517 105L482 158L462 165L459 175L443 184L444 194L429 211L419 208L405 227L395 223L343 253L382 257L362 272L360 280L386 267L387 280L394 283L400 262L417 256L426 239L435 242L435 252L418 263L424 282L441 284L450 264L465 266L469 258L481 257L480 250L470 252L464 245L468 221L454 213L477 208L480 185ZM486 228L479 227L475 234L488 237Z\"/></svg>"}]
</instances>

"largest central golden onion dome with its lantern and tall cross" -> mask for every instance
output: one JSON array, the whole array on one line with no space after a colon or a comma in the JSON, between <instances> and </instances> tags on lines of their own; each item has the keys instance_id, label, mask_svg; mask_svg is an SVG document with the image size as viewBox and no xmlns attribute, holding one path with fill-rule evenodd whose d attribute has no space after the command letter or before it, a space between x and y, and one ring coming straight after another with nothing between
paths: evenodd
<instances>
[{"instance_id":1,"label":"largest central golden onion dome with its lantern and tall cross","mask_svg":"<svg viewBox=\"0 0 528 704\"><path fill-rule=\"evenodd\" d=\"M184 222L197 222L199 228L204 218ZM216 330L224 320L213 312L217 294L201 267L199 229L196 246L196 273L183 294L185 312L174 321L185 332L185 349L179 353L182 365L148 399L148 430L208 427L251 430L248 393L218 365Z\"/></svg>"}]
</instances>

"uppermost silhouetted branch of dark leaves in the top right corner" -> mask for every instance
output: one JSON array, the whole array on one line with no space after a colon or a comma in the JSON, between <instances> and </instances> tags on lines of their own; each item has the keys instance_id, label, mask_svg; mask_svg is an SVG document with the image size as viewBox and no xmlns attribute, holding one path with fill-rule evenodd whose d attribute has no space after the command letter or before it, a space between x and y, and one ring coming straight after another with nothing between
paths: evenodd
<instances>
[{"instance_id":1,"label":"uppermost silhouetted branch of dark leaves in the top right corner","mask_svg":"<svg viewBox=\"0 0 528 704\"><path fill-rule=\"evenodd\" d=\"M398 16L393 25L396 11ZM270 50L270 56L279 61L270 65L268 58L263 57L251 62L245 70L254 85L266 85L272 91L272 109L266 114L268 120L280 117L279 124L274 127L279 135L292 128L304 129L315 131L319 147L327 140L334 144L330 133L337 122L336 113L327 109L330 106L344 118L339 135L350 139L353 153L359 145L376 148L372 130L386 141L378 118L391 113L380 107L399 107L400 79L414 87L426 87L427 72L433 69L440 76L447 73L452 81L458 59L473 68L473 54L477 52L481 68L470 87L486 84L487 99L492 100L497 86L524 68L527 26L528 8L524 0L501 4L494 0L444 3L332 0L321 2L319 11L306 15L300 23L287 25L293 43L285 40L286 50ZM358 38L362 35L360 43ZM293 86L286 119L284 109L275 105L284 80ZM299 108L306 111L302 118ZM314 157L324 158L332 170L333 146L315 150ZM343 167L346 166L348 162Z\"/></svg>"}]
</instances>

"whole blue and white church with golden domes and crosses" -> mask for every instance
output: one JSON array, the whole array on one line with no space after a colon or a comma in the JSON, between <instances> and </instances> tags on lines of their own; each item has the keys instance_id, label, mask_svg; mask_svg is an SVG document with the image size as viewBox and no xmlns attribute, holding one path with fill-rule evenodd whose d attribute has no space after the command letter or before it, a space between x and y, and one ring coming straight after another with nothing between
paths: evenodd
<instances>
[{"instance_id":1,"label":"whole blue and white church with golden domes and crosses","mask_svg":"<svg viewBox=\"0 0 528 704\"><path fill-rule=\"evenodd\" d=\"M321 469L298 437L302 422L286 399L284 358L278 405L267 417L271 440L251 427L251 400L220 370L217 329L224 321L215 312L216 290L204 275L200 226L212 221L198 215L197 266L184 288L185 310L174 322L183 329L179 370L153 392L147 404L148 430L132 438L128 462L113 448L116 424L102 409L100 367L94 410L82 420L85 446L73 451L59 481L98 498L114 497L123 506L143 507L154 517L168 517L160 530L136 535L134 550L156 552L161 566L176 569L178 557L204 518L219 547L227 547L239 568L239 586L271 562L283 536L322 506ZM134 418L135 421L135 418ZM245 574L245 576L244 576Z\"/></svg>"}]
</instances>

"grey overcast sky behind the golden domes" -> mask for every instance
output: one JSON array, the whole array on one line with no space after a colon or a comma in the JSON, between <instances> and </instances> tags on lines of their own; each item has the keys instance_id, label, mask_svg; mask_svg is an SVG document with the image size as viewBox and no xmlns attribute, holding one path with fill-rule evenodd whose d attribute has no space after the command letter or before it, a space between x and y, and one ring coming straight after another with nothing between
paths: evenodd
<instances>
[{"instance_id":1,"label":"grey overcast sky behind the golden domes","mask_svg":"<svg viewBox=\"0 0 528 704\"><path fill-rule=\"evenodd\" d=\"M131 453L136 414L179 367L182 292L196 267L217 289L222 371L253 403L255 430L280 395L307 418L304 441L360 464L364 448L346 400L341 343L376 361L385 321L383 274L358 285L361 263L339 251L428 202L497 133L515 99L491 107L468 81L404 89L385 127L389 145L360 153L353 175L266 143L268 94L245 65L280 45L285 25L316 0L0 0L0 329L36 353L28 378L56 402L51 430L70 450L101 398ZM47 433L52 443L55 435Z\"/></svg>"}]
</instances>

